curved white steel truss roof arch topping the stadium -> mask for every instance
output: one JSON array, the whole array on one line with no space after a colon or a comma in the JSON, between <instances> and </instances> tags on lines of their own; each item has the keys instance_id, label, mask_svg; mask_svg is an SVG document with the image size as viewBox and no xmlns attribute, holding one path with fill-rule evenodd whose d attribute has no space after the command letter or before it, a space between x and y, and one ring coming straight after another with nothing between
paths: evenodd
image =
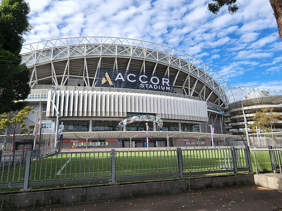
<instances>
[{"instance_id":1,"label":"curved white steel truss roof arch topping the stadium","mask_svg":"<svg viewBox=\"0 0 282 211\"><path fill-rule=\"evenodd\" d=\"M226 82L211 67L182 51L153 42L117 37L60 38L23 45L21 54L22 62L32 69L32 87L44 80L62 86L66 84L67 77L81 77L87 86L95 86L95 75L87 72L87 60L95 58L95 61L91 60L95 63L93 72L103 65L104 60L105 64L108 62L116 69L118 65L126 70L131 66L141 67L140 71L143 69L144 72L150 69L152 73L173 76L174 88L183 89L186 95L200 97L218 106L228 105L222 89ZM65 67L60 69L58 64L63 62ZM77 67L81 63L78 69L84 70L83 76L68 73L70 63L75 62ZM46 73L47 70L40 73L39 68L42 67L50 69L50 74Z\"/></svg>"}]
</instances>

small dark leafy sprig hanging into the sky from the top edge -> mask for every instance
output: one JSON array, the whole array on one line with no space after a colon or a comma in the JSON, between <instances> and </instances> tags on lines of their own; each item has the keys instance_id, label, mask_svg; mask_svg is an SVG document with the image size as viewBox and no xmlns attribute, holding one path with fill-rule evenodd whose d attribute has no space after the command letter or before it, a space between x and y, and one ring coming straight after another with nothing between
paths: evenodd
<instances>
[{"instance_id":1,"label":"small dark leafy sprig hanging into the sky from the top edge","mask_svg":"<svg viewBox=\"0 0 282 211\"><path fill-rule=\"evenodd\" d=\"M212 0L213 2L208 4L208 10L214 14L217 14L221 7L228 6L229 14L233 15L239 9L237 0Z\"/></svg>"}]
</instances>

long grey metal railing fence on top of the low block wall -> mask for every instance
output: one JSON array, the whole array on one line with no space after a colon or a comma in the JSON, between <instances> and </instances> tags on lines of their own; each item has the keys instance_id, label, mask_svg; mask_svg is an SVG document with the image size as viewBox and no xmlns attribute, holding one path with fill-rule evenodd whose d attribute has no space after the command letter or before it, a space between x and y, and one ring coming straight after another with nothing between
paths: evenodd
<instances>
[{"instance_id":1,"label":"long grey metal railing fence on top of the low block wall","mask_svg":"<svg viewBox=\"0 0 282 211\"><path fill-rule=\"evenodd\" d=\"M25 154L26 153L26 154ZM7 160L12 155L1 155ZM23 151L21 162L1 166L0 188L115 182L252 171L248 148L59 153ZM9 159L8 159L9 160ZM9 161L12 161L11 159Z\"/></svg>"}]
</instances>

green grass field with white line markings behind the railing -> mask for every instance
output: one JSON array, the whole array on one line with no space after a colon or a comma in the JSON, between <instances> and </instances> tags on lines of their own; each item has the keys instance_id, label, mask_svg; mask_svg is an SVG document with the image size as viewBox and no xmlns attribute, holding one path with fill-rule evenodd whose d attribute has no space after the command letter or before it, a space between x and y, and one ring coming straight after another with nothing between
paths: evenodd
<instances>
[{"instance_id":1,"label":"green grass field with white line markings behind the railing","mask_svg":"<svg viewBox=\"0 0 282 211\"><path fill-rule=\"evenodd\" d=\"M236 153L238 168L247 167L244 149ZM33 159L30 181L54 181L111 176L110 152L53 154ZM269 161L270 162L270 161ZM184 172L233 169L230 149L182 150ZM177 151L116 152L115 175L135 176L178 173ZM22 182L24 164L0 169L1 183Z\"/></svg>"}]
</instances>

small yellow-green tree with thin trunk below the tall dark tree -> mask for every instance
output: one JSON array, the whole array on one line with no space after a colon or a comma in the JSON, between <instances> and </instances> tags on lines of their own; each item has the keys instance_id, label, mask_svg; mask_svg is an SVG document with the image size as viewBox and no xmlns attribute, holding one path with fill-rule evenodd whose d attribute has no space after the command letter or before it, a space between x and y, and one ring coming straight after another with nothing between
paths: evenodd
<instances>
[{"instance_id":1,"label":"small yellow-green tree with thin trunk below the tall dark tree","mask_svg":"<svg viewBox=\"0 0 282 211\"><path fill-rule=\"evenodd\" d=\"M28 118L29 112L33 112L33 107L26 106L19 112L3 113L0 115L0 132L4 135L12 136L11 151L15 146L15 134L18 128L22 128L20 134L31 134L33 132L34 125L29 125L26 128L25 120ZM12 134L8 134L10 129ZM6 130L6 131L5 131Z\"/></svg>"}]
</instances>

